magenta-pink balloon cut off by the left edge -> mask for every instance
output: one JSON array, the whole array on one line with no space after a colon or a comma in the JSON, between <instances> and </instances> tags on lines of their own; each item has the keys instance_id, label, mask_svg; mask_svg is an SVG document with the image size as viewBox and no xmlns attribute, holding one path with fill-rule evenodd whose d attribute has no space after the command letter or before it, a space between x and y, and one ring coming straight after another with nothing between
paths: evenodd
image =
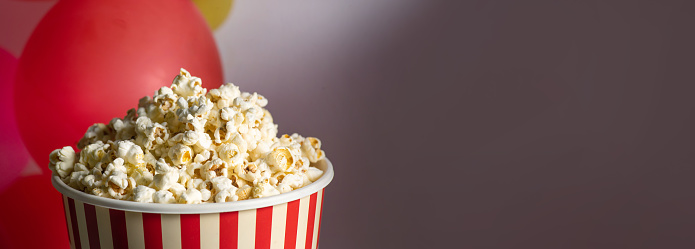
<instances>
[{"instance_id":1,"label":"magenta-pink balloon cut off by the left edge","mask_svg":"<svg viewBox=\"0 0 695 249\"><path fill-rule=\"evenodd\" d=\"M0 48L0 191L19 177L27 164L27 152L17 130L12 88L17 59Z\"/></svg>"}]
</instances>

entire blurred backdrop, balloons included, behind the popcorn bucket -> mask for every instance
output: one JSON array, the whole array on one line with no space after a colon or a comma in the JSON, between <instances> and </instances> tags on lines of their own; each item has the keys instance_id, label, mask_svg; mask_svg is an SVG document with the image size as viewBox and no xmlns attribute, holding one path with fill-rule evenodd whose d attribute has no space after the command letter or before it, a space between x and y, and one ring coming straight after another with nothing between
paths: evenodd
<instances>
[{"instance_id":1,"label":"entire blurred backdrop, balloons included, behind the popcorn bucket","mask_svg":"<svg viewBox=\"0 0 695 249\"><path fill-rule=\"evenodd\" d=\"M81 2L0 1L0 248L67 241L48 153L178 67L322 140L321 248L695 246L692 1Z\"/></svg>"}]
</instances>

